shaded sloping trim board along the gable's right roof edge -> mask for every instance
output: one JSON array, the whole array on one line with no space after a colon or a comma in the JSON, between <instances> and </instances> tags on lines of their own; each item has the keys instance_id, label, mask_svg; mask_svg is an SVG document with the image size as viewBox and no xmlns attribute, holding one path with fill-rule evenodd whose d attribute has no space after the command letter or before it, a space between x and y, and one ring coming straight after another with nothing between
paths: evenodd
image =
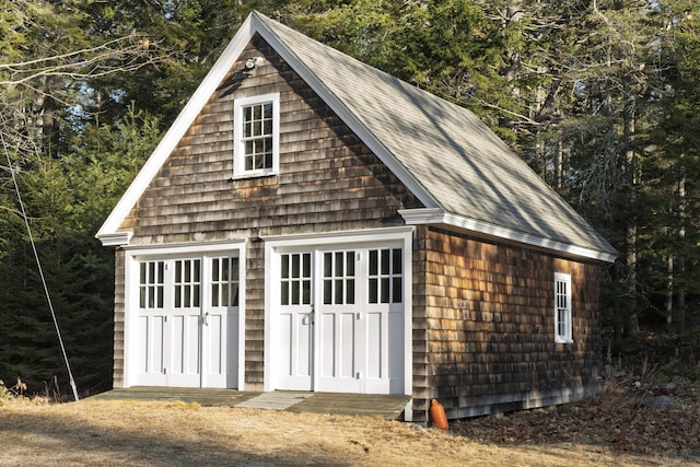
<instances>
[{"instance_id":1,"label":"shaded sloping trim board along the gable's right roof edge","mask_svg":"<svg viewBox=\"0 0 700 467\"><path fill-rule=\"evenodd\" d=\"M300 59L294 51L287 46L280 37L262 22L256 12L252 13L255 20L255 30L292 67L302 80L313 89L316 94L340 117L340 119L364 142L370 151L394 173L399 180L422 203L428 207L442 206L438 199L406 168L382 143L372 131L358 118L354 113L342 103L336 94Z\"/></svg>"}]
</instances>

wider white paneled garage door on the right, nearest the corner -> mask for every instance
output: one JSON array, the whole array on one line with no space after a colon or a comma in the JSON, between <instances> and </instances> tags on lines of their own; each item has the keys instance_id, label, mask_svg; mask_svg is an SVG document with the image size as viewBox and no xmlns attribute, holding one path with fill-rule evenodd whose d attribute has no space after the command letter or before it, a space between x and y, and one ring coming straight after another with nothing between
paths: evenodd
<instances>
[{"instance_id":1,"label":"wider white paneled garage door on the right, nearest the corner","mask_svg":"<svg viewBox=\"0 0 700 467\"><path fill-rule=\"evenodd\" d=\"M402 394L402 247L283 252L276 272L275 388Z\"/></svg>"}]
</instances>

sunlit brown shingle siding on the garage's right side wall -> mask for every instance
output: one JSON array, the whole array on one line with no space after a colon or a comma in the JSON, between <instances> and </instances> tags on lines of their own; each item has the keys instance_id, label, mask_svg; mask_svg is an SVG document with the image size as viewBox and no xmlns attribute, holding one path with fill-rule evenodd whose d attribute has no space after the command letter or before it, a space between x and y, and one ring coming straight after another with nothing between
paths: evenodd
<instances>
[{"instance_id":1,"label":"sunlit brown shingle siding on the garage's right side wall","mask_svg":"<svg viewBox=\"0 0 700 467\"><path fill-rule=\"evenodd\" d=\"M581 398L598 383L598 265L435 229L415 260L416 421L438 398L448 418ZM418 258L421 254L416 255ZM553 275L572 277L574 342L555 343ZM420 362L420 364L417 364Z\"/></svg>"}]
</instances>

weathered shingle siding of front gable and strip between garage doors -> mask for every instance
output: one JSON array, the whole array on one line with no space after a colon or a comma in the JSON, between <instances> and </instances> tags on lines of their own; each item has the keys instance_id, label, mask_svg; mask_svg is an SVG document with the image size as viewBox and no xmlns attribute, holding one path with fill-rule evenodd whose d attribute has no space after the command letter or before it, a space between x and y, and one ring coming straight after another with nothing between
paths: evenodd
<instances>
[{"instance_id":1,"label":"weathered shingle siding of front gable and strip between garage doors","mask_svg":"<svg viewBox=\"0 0 700 467\"><path fill-rule=\"evenodd\" d=\"M264 377L265 258L255 238L402 225L397 210L420 207L259 37L233 70L255 56L269 63L237 90L210 100L121 224L133 232L135 245L252 238L245 320L249 390L261 389ZM280 173L232 180L234 100L271 92L281 98Z\"/></svg>"}]
</instances>

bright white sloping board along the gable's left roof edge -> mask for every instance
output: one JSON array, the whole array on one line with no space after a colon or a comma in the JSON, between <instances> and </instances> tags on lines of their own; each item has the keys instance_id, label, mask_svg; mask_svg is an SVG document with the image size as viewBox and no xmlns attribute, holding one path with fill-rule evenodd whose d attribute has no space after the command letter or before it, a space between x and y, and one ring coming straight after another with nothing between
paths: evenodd
<instances>
[{"instance_id":1,"label":"bright white sloping board along the gable's left roof edge","mask_svg":"<svg viewBox=\"0 0 700 467\"><path fill-rule=\"evenodd\" d=\"M113 209L107 220L95 235L97 238L107 238L116 233L117 229L127 217L133 205L141 197L158 171L173 152L185 132L189 129L195 118L199 115L205 104L209 101L217 86L226 75L235 60L248 44L255 32L250 27L250 16L241 25L233 40L226 46L219 60L211 68L207 77L195 91L161 142L158 144L149 160L136 176L129 188ZM103 241L103 245L106 245Z\"/></svg>"}]
</instances>

